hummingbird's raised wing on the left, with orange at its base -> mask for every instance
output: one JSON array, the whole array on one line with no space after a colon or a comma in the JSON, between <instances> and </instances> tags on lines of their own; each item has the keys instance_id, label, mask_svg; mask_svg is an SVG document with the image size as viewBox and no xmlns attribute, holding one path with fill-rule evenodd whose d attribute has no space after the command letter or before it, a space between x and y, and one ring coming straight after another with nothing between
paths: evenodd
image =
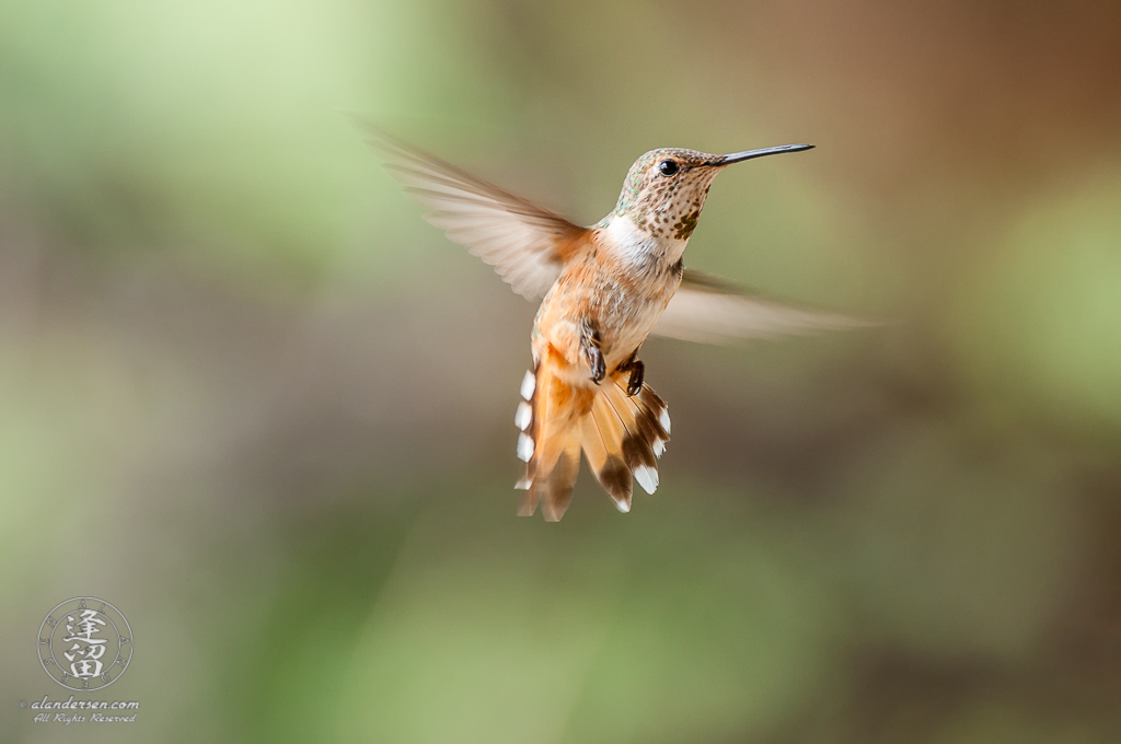
<instances>
[{"instance_id":1,"label":"hummingbird's raised wing on the left, with orange at its base","mask_svg":"<svg viewBox=\"0 0 1121 744\"><path fill-rule=\"evenodd\" d=\"M386 170L432 210L425 220L494 267L526 299L544 297L587 227L475 178L439 158L367 128L369 142L389 161Z\"/></svg>"}]
</instances>

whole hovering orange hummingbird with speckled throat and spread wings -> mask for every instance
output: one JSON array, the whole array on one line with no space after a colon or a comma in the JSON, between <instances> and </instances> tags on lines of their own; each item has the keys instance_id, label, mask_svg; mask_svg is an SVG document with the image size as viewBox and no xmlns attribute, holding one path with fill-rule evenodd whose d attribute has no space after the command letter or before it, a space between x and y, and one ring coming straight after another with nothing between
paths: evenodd
<instances>
[{"instance_id":1,"label":"whole hovering orange hummingbird with speckled throat and spread wings","mask_svg":"<svg viewBox=\"0 0 1121 744\"><path fill-rule=\"evenodd\" d=\"M515 424L526 462L518 513L538 504L548 521L568 508L583 450L622 512L632 478L658 487L669 440L666 402L638 359L647 335L707 343L868 325L790 307L686 269L682 254L713 178L735 162L812 145L731 155L651 150L631 166L615 208L582 227L401 140L370 143L425 218L494 267L526 299L544 297L531 333L534 369L521 382Z\"/></svg>"}]
</instances>

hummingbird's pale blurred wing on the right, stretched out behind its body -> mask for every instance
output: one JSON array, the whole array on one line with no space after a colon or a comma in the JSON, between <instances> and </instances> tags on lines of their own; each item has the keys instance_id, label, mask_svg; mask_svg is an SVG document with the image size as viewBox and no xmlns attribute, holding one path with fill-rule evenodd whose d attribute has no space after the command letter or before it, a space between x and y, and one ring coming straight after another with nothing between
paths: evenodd
<instances>
[{"instance_id":1,"label":"hummingbird's pale blurred wing on the right, stretched out behind its body","mask_svg":"<svg viewBox=\"0 0 1121 744\"><path fill-rule=\"evenodd\" d=\"M794 307L686 270L651 333L707 344L784 334L809 334L879 325L835 313Z\"/></svg>"}]
</instances>

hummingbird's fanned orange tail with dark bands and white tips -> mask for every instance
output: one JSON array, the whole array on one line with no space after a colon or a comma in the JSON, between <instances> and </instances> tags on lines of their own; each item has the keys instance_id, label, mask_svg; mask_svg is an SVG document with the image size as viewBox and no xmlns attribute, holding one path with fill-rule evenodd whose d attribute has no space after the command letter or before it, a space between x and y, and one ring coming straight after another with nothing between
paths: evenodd
<instances>
[{"instance_id":1,"label":"hummingbird's fanned orange tail with dark bands and white tips","mask_svg":"<svg viewBox=\"0 0 1121 744\"><path fill-rule=\"evenodd\" d=\"M515 487L526 495L518 513L528 517L540 504L547 521L559 520L572 500L582 449L619 511L630 511L632 477L647 493L658 487L657 458L669 440L666 403L649 385L629 397L626 372L608 375L597 388L573 385L558 374L565 364L545 356L521 383L525 400L515 424L526 475Z\"/></svg>"}]
</instances>

